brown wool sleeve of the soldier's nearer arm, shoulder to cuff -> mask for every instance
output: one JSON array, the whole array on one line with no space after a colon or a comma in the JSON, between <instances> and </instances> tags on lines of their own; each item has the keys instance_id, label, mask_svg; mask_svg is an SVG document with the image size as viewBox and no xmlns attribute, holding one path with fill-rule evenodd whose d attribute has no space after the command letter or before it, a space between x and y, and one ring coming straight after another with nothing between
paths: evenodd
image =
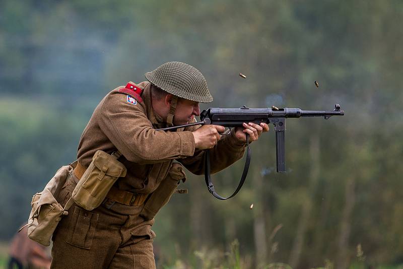
<instances>
[{"instance_id":1,"label":"brown wool sleeve of the soldier's nearer arm, shoulder to cuff","mask_svg":"<svg viewBox=\"0 0 403 269\"><path fill-rule=\"evenodd\" d=\"M152 164L194 154L190 131L156 131L140 102L128 102L125 94L110 94L98 117L100 129L130 162Z\"/></svg>"}]
</instances>

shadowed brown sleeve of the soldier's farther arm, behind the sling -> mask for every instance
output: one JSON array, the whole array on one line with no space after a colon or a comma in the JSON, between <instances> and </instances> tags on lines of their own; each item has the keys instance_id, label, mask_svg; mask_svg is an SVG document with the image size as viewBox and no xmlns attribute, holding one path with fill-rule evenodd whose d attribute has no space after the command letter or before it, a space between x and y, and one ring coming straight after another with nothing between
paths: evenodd
<instances>
[{"instance_id":1,"label":"shadowed brown sleeve of the soldier's farther arm, behind the sling","mask_svg":"<svg viewBox=\"0 0 403 269\"><path fill-rule=\"evenodd\" d=\"M211 173L217 173L241 159L245 147L246 144L235 137L233 128L228 136L224 136L213 149L210 149ZM196 151L192 157L178 161L193 174L202 175L205 171L205 154L205 150Z\"/></svg>"}]
</instances>

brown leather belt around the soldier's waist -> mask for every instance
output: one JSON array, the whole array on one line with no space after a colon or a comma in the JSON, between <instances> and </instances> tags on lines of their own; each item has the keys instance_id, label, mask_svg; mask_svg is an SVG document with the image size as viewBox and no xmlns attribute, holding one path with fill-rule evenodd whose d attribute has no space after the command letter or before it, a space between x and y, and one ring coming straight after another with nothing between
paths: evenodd
<instances>
[{"instance_id":1,"label":"brown leather belt around the soldier's waist","mask_svg":"<svg viewBox=\"0 0 403 269\"><path fill-rule=\"evenodd\" d=\"M82 166L80 162L77 162L77 166L74 168L73 173L78 179L80 179L85 170L86 168ZM108 194L106 194L106 197L126 206L141 206L146 201L148 194L130 192L112 186Z\"/></svg>"}]
</instances>

